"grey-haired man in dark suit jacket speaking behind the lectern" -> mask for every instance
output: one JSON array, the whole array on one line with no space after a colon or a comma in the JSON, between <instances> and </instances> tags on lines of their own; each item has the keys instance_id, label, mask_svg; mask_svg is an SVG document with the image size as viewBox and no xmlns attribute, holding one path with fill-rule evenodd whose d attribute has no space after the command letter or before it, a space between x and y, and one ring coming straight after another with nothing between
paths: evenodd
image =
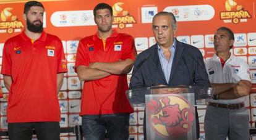
<instances>
[{"instance_id":1,"label":"grey-haired man in dark suit jacket speaking behind the lectern","mask_svg":"<svg viewBox=\"0 0 256 140\"><path fill-rule=\"evenodd\" d=\"M174 15L159 12L153 17L152 24L157 43L137 56L130 89L179 85L208 87L209 80L201 52L174 37L177 31ZM157 93L168 92L168 89L160 89ZM198 117L196 123L199 138Z\"/></svg>"}]
</instances>

